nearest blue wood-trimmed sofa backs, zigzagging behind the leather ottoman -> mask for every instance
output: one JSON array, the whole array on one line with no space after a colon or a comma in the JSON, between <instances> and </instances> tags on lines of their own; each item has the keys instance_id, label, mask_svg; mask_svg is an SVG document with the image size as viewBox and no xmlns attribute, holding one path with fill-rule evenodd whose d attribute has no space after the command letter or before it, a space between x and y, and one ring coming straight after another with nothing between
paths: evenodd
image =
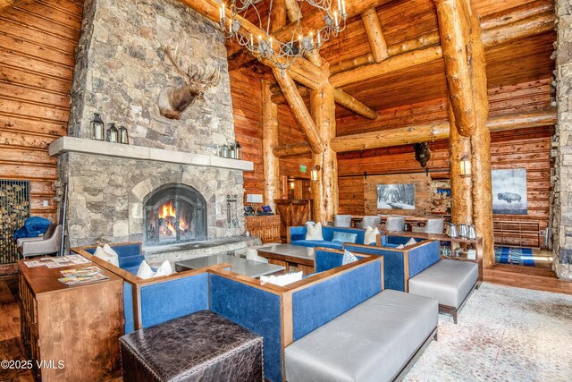
<instances>
[{"instance_id":1,"label":"nearest blue wood-trimmed sofa backs, zigzagging behind the leather ottoman","mask_svg":"<svg viewBox=\"0 0 572 382\"><path fill-rule=\"evenodd\" d=\"M286 286L237 275L226 264L142 280L87 249L72 250L122 276L125 333L212 310L264 337L265 378L273 382L285 380L286 347L383 291L383 257L360 255L340 266L340 250L317 248L320 272Z\"/></svg>"}]
</instances>

